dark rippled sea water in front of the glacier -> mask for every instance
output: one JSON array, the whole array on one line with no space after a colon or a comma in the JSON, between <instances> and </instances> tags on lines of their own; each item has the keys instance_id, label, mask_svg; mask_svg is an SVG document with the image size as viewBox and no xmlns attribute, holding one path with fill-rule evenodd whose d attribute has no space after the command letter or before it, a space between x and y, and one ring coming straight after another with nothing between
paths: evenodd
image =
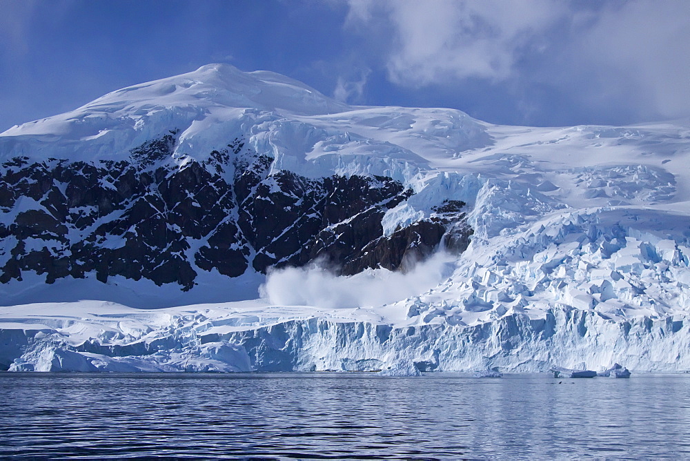
<instances>
[{"instance_id":1,"label":"dark rippled sea water in front of the glacier","mask_svg":"<svg viewBox=\"0 0 690 461\"><path fill-rule=\"evenodd\" d=\"M690 376L0 373L12 456L689 458Z\"/></svg>"}]
</instances>

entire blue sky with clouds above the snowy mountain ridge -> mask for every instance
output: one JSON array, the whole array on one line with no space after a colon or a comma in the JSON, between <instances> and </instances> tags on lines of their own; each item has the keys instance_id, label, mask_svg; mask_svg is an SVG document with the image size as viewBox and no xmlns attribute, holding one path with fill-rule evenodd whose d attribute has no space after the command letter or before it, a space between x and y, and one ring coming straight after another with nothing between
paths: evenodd
<instances>
[{"instance_id":1,"label":"entire blue sky with clouds above the snowy mountain ridge","mask_svg":"<svg viewBox=\"0 0 690 461\"><path fill-rule=\"evenodd\" d=\"M0 0L0 131L224 62L495 124L690 117L689 0Z\"/></svg>"}]
</instances>

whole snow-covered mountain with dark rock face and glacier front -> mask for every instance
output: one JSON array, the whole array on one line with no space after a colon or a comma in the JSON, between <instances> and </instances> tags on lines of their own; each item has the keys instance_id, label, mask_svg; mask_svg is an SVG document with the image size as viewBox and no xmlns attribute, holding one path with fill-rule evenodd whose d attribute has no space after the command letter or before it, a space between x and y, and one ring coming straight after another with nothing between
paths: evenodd
<instances>
[{"instance_id":1,"label":"whole snow-covered mountain with dark rock face and glacier front","mask_svg":"<svg viewBox=\"0 0 690 461\"><path fill-rule=\"evenodd\" d=\"M227 65L124 88L0 134L0 366L687 370L689 159L680 122L495 126Z\"/></svg>"}]
</instances>

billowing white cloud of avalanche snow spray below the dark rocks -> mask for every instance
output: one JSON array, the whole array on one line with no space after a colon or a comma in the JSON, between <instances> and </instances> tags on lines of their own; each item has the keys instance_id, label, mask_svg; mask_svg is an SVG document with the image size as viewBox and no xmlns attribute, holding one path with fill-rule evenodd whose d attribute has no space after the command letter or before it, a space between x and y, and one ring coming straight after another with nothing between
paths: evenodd
<instances>
[{"instance_id":1,"label":"billowing white cloud of avalanche snow spray below the dark rocks","mask_svg":"<svg viewBox=\"0 0 690 461\"><path fill-rule=\"evenodd\" d=\"M353 308L382 306L424 293L451 276L457 257L439 251L406 273L368 269L337 276L321 264L268 273L259 294L272 304Z\"/></svg>"}]
</instances>

